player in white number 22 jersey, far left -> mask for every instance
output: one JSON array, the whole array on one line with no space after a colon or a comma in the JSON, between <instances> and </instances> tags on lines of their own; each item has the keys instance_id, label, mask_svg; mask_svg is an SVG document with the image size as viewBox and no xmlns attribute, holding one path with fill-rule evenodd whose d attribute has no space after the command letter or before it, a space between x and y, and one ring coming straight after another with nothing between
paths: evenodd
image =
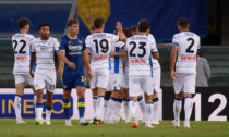
<instances>
[{"instance_id":1,"label":"player in white number 22 jersey, far left","mask_svg":"<svg viewBox=\"0 0 229 137\"><path fill-rule=\"evenodd\" d=\"M24 124L25 122L21 116L22 107L22 96L24 94L25 82L34 90L34 79L29 75L29 61L31 61L31 45L34 40L34 36L28 34L31 21L28 18L22 17L17 21L17 26L20 33L13 35L12 46L14 50L14 67L13 74L15 78L16 95L14 99L15 105L15 116L17 124ZM34 101L36 101L36 94L34 96ZM35 104L35 102L34 102Z\"/></svg>"}]
</instances>

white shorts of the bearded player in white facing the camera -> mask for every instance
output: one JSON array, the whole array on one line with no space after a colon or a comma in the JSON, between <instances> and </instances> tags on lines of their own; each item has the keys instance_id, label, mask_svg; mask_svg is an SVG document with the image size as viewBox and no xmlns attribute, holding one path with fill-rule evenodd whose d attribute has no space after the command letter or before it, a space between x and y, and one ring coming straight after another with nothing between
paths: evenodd
<instances>
[{"instance_id":1,"label":"white shorts of the bearded player in white facing the camera","mask_svg":"<svg viewBox=\"0 0 229 137\"><path fill-rule=\"evenodd\" d=\"M37 74L34 75L34 87L35 90L44 89L48 90L49 92L55 92L56 89L56 73L49 74Z\"/></svg>"}]
</instances>

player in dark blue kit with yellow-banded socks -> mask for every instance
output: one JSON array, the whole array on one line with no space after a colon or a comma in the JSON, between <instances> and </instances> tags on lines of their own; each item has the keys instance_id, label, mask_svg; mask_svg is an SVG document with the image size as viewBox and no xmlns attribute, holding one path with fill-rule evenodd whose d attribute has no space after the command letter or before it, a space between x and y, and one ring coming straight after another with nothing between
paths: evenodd
<instances>
[{"instance_id":1,"label":"player in dark blue kit with yellow-banded socks","mask_svg":"<svg viewBox=\"0 0 229 137\"><path fill-rule=\"evenodd\" d=\"M89 122L84 120L85 113L85 91L86 74L87 79L92 78L92 71L88 62L88 53L85 52L85 40L79 35L79 21L68 21L69 34L61 37L59 54L59 76L63 85L63 108L65 114L65 125L72 126L70 117L70 98L72 88L76 88L77 109L80 115L79 125L88 125ZM61 71L62 70L62 71Z\"/></svg>"}]
</instances>

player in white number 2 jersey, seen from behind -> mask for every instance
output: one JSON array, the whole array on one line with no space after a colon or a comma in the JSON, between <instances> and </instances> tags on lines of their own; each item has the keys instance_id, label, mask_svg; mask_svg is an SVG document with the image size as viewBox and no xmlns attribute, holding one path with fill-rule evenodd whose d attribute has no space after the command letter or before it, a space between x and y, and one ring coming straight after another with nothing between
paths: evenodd
<instances>
[{"instance_id":1,"label":"player in white number 2 jersey, seen from behind","mask_svg":"<svg viewBox=\"0 0 229 137\"><path fill-rule=\"evenodd\" d=\"M201 43L200 37L189 32L190 25L186 18L179 18L177 25L180 33L172 38L170 55L170 72L174 87L174 126L180 127L180 112L184 97L184 127L191 128L190 116L193 108L192 94L195 94L196 54Z\"/></svg>"}]
</instances>

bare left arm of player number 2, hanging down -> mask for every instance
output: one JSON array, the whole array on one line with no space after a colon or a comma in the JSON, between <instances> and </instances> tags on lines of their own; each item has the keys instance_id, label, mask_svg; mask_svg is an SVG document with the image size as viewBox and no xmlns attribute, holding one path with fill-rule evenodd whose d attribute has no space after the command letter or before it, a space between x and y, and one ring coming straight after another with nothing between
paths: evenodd
<instances>
[{"instance_id":1,"label":"bare left arm of player number 2, hanging down","mask_svg":"<svg viewBox=\"0 0 229 137\"><path fill-rule=\"evenodd\" d=\"M171 54L170 54L170 73L171 78L174 80L177 78L177 74L174 72L174 63L177 59L178 47L172 47Z\"/></svg>"}]
</instances>

